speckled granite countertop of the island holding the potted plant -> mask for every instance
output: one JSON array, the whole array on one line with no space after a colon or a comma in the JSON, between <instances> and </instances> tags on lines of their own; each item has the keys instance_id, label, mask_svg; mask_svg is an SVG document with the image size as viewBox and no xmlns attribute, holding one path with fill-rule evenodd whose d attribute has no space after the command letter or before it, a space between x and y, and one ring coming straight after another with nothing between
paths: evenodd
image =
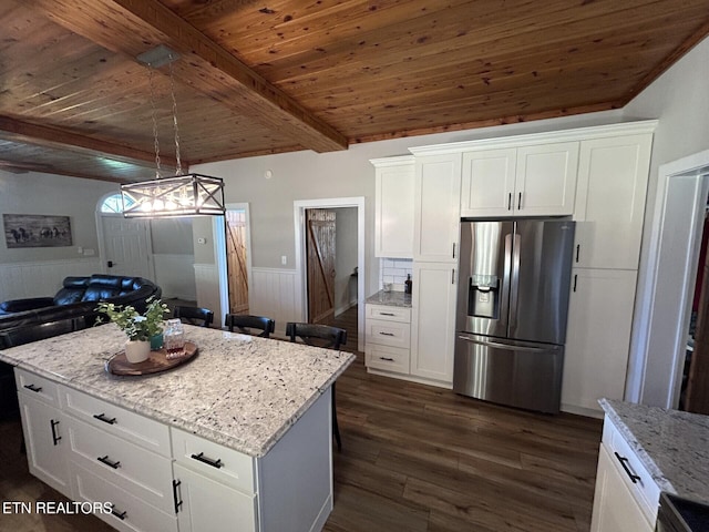
<instances>
[{"instance_id":1,"label":"speckled granite countertop of the island holding the potted plant","mask_svg":"<svg viewBox=\"0 0 709 532\"><path fill-rule=\"evenodd\" d=\"M0 360L263 457L354 360L354 355L185 325L199 352L168 371L116 377L123 350L113 324L0 351Z\"/></svg>"}]
</instances>

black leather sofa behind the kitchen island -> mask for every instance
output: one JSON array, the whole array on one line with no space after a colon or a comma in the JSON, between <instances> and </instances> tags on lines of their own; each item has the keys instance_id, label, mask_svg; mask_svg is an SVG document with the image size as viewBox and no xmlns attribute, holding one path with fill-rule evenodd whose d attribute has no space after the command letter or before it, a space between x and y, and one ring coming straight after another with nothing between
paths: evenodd
<instances>
[{"instance_id":1,"label":"black leather sofa behind the kitchen island","mask_svg":"<svg viewBox=\"0 0 709 532\"><path fill-rule=\"evenodd\" d=\"M160 286L142 277L94 274L66 277L62 285L53 297L0 303L0 349L92 327L97 301L143 313L148 298L162 295Z\"/></svg>"}]
</instances>

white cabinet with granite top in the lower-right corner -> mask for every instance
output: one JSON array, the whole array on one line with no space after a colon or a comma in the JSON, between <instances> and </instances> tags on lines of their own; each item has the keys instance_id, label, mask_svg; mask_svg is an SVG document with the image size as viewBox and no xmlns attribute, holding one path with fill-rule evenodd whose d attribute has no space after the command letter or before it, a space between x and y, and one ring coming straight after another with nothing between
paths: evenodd
<instances>
[{"instance_id":1,"label":"white cabinet with granite top in the lower-right corner","mask_svg":"<svg viewBox=\"0 0 709 532\"><path fill-rule=\"evenodd\" d=\"M592 532L655 531L661 492L709 502L709 417L608 399L599 403L606 416Z\"/></svg>"}]
</instances>

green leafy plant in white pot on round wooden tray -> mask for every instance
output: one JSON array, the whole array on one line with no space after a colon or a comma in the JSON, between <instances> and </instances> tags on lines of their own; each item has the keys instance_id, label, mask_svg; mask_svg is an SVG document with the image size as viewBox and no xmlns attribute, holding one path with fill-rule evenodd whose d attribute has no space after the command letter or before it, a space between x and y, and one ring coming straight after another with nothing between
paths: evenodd
<instances>
[{"instance_id":1,"label":"green leafy plant in white pot on round wooden tray","mask_svg":"<svg viewBox=\"0 0 709 532\"><path fill-rule=\"evenodd\" d=\"M129 339L125 342L125 358L137 364L146 360L151 354L151 338L163 331L163 316L169 313L167 305L160 299L147 299L147 307L142 315L131 305L99 303L97 311L119 326ZM101 323L99 317L97 323Z\"/></svg>"}]
</instances>

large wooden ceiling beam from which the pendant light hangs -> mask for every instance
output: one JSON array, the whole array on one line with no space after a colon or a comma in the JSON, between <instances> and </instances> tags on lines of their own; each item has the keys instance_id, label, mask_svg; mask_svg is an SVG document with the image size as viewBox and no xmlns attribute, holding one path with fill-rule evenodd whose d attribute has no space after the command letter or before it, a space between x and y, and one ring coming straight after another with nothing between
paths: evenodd
<instances>
[{"instance_id":1,"label":"large wooden ceiling beam from which the pendant light hangs","mask_svg":"<svg viewBox=\"0 0 709 532\"><path fill-rule=\"evenodd\" d=\"M30 0L50 19L109 50L136 58L158 44L181 54L177 80L316 152L348 140L157 0ZM165 70L165 69L163 69Z\"/></svg>"}]
</instances>

